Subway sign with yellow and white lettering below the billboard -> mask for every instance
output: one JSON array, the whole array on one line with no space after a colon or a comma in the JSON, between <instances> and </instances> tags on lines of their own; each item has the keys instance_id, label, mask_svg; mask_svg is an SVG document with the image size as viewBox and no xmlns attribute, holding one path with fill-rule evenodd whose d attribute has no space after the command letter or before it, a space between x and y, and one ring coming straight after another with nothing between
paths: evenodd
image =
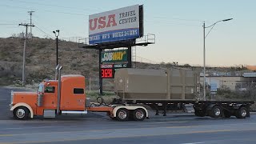
<instances>
[{"instance_id":1,"label":"Subway sign with yellow and white lettering below the billboard","mask_svg":"<svg viewBox=\"0 0 256 144\"><path fill-rule=\"evenodd\" d=\"M126 62L127 50L102 51L101 61L104 62Z\"/></svg>"}]
</instances>

